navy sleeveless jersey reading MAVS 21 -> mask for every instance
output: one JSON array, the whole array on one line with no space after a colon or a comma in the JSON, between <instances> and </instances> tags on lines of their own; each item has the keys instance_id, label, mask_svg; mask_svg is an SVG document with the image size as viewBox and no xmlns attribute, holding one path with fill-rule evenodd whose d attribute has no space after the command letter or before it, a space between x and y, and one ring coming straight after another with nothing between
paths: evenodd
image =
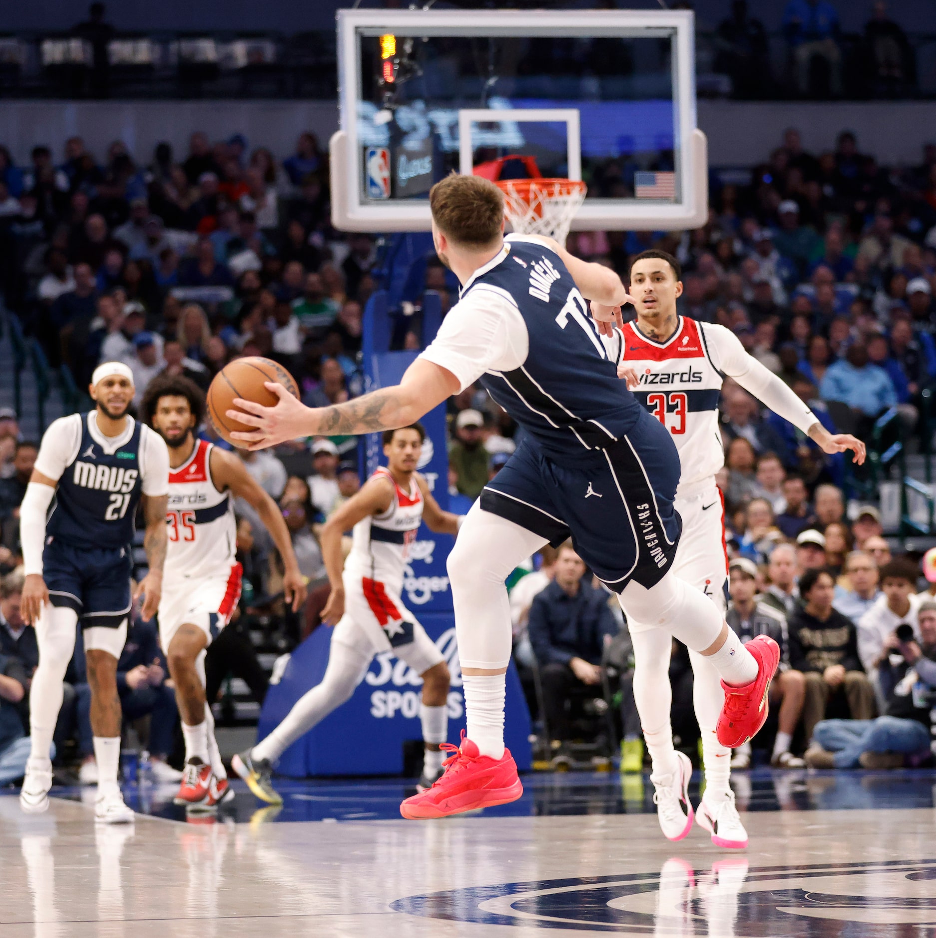
<instances>
[{"instance_id":1,"label":"navy sleeveless jersey reading MAVS 21","mask_svg":"<svg viewBox=\"0 0 936 938\"><path fill-rule=\"evenodd\" d=\"M92 412L93 413L93 412ZM58 480L46 534L76 547L115 550L133 540L134 518L143 493L140 435L136 422L127 443L107 454L82 419L78 456Z\"/></svg>"}]
</instances>

